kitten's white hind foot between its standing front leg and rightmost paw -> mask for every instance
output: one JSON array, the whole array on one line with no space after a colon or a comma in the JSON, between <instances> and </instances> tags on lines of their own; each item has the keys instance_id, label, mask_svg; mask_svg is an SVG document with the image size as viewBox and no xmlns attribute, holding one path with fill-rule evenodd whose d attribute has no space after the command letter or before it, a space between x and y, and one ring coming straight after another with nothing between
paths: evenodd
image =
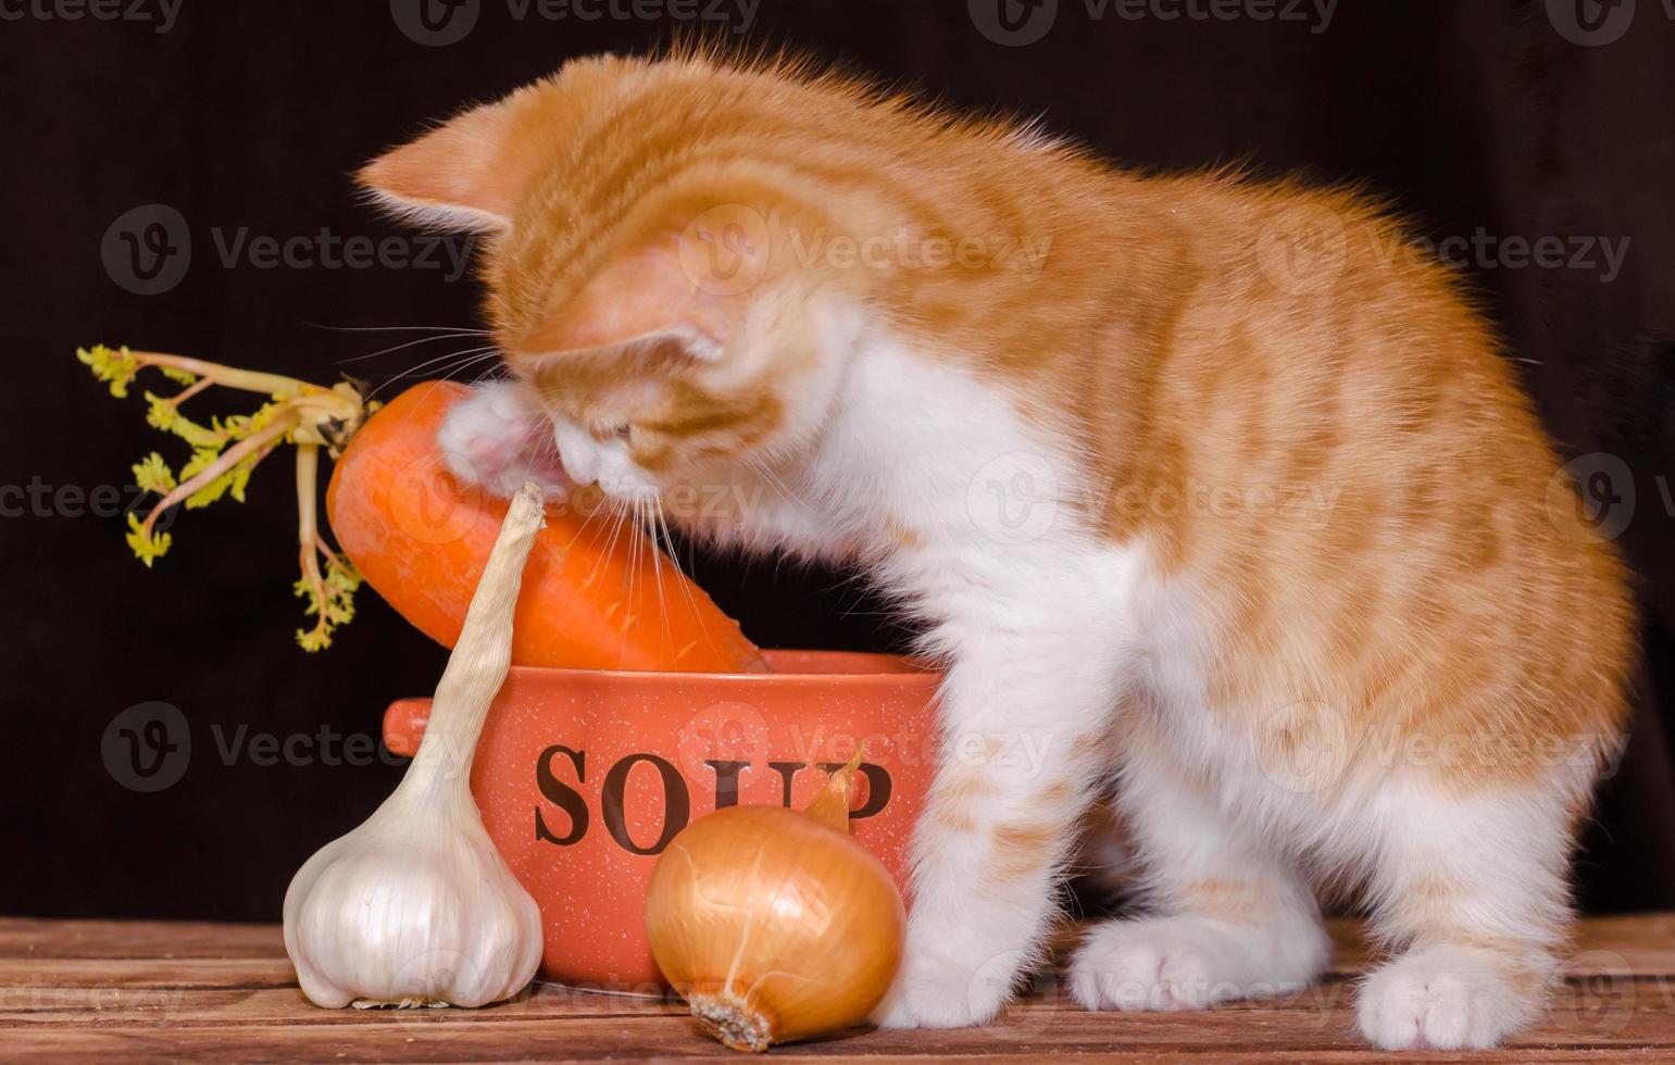
<instances>
[{"instance_id":1,"label":"kitten's white hind foot between its standing front leg and rightmost paw","mask_svg":"<svg viewBox=\"0 0 1675 1065\"><path fill-rule=\"evenodd\" d=\"M1291 949L1266 933L1204 918L1111 921L1070 961L1070 996L1087 1010L1203 1010L1308 986L1325 965L1325 933L1293 929Z\"/></svg>"}]
</instances>

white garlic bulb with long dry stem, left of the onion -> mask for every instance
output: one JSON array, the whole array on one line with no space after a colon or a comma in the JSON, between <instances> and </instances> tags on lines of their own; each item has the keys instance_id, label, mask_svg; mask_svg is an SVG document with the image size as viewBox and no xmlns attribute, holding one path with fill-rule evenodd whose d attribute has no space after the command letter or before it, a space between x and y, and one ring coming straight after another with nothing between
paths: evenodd
<instances>
[{"instance_id":1,"label":"white garlic bulb with long dry stem, left of the onion","mask_svg":"<svg viewBox=\"0 0 1675 1065\"><path fill-rule=\"evenodd\" d=\"M481 1006L541 961L541 914L471 797L482 720L511 666L513 608L541 494L513 501L395 792L310 857L285 893L285 949L320 1006Z\"/></svg>"}]
</instances>

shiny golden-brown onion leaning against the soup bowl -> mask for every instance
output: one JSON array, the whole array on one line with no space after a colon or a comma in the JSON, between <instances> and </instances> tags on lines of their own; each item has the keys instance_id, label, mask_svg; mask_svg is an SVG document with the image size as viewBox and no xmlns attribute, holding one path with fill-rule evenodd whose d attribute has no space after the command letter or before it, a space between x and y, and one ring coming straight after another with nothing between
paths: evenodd
<instances>
[{"instance_id":1,"label":"shiny golden-brown onion leaning against the soup bowl","mask_svg":"<svg viewBox=\"0 0 1675 1065\"><path fill-rule=\"evenodd\" d=\"M804 812L735 805L700 817L652 871L652 954L734 1050L863 1021L896 975L901 894L849 836L859 762L856 752Z\"/></svg>"}]
</instances>

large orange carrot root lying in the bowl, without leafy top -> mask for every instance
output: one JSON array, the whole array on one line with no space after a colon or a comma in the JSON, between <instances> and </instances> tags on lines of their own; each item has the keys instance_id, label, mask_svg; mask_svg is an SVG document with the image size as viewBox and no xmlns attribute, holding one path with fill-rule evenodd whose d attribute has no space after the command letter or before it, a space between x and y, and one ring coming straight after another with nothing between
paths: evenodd
<instances>
[{"instance_id":1,"label":"large orange carrot root lying in the bowl, without leafy top","mask_svg":"<svg viewBox=\"0 0 1675 1065\"><path fill-rule=\"evenodd\" d=\"M427 636L454 646L506 502L461 486L436 430L464 385L424 382L350 439L332 531L360 574ZM548 507L524 569L513 661L596 670L767 670L739 625L631 522L591 516L586 491ZM603 502L598 504L603 507Z\"/></svg>"}]
</instances>

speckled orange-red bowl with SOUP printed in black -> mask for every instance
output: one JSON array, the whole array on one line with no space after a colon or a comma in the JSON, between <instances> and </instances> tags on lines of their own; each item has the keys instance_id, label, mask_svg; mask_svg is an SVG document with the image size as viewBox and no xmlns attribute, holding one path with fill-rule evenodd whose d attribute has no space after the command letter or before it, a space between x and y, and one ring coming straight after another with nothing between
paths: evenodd
<instances>
[{"instance_id":1,"label":"speckled orange-red bowl with SOUP printed in black","mask_svg":"<svg viewBox=\"0 0 1675 1065\"><path fill-rule=\"evenodd\" d=\"M645 884L680 829L717 807L802 809L858 743L851 829L906 891L908 839L936 755L940 677L910 660L765 651L774 673L514 666L471 770L482 824L541 908L541 976L660 993ZM430 700L384 715L419 750Z\"/></svg>"}]
</instances>

